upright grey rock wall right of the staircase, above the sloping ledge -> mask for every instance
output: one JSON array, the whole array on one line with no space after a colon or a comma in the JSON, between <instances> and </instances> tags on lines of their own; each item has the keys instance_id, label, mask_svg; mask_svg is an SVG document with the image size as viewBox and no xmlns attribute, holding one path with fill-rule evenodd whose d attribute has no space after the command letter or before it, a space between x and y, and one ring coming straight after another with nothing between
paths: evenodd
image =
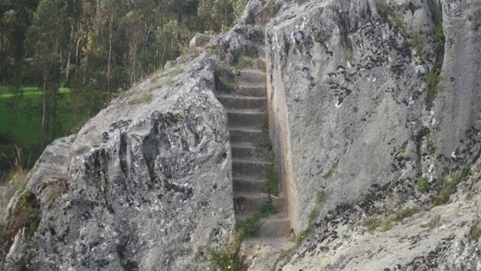
<instances>
[{"instance_id":1,"label":"upright grey rock wall right of the staircase, above the sloping ledge","mask_svg":"<svg viewBox=\"0 0 481 271\"><path fill-rule=\"evenodd\" d=\"M475 149L465 153L472 163L480 115L474 2L443 3L445 64L432 104L426 74L442 55L427 1L285 4L267 26L271 129L296 232L316 190L326 191L325 215L392 181L412 196L419 177L435 182L458 167L466 147ZM433 145L440 148L429 152Z\"/></svg>"}]
</instances>

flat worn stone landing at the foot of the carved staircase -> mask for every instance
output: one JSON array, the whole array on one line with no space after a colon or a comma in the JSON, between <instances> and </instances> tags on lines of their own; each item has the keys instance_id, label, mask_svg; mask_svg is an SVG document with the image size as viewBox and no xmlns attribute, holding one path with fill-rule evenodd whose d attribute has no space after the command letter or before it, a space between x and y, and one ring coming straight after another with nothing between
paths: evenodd
<instances>
[{"instance_id":1,"label":"flat worn stone landing at the foot of the carved staircase","mask_svg":"<svg viewBox=\"0 0 481 271\"><path fill-rule=\"evenodd\" d=\"M237 225L243 225L247 222L249 217L252 216L236 216L235 222ZM288 236L291 231L289 218L284 213L277 213L275 215L262 218L261 221L263 222L263 225L255 237L278 238Z\"/></svg>"}]
</instances>

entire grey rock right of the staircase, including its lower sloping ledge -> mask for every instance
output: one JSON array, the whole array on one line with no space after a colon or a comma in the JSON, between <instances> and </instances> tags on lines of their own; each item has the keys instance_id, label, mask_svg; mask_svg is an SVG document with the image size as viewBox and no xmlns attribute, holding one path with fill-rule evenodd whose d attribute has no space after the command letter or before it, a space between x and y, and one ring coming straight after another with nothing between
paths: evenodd
<instances>
[{"instance_id":1,"label":"entire grey rock right of the staircase, including its lower sloping ledge","mask_svg":"<svg viewBox=\"0 0 481 271\"><path fill-rule=\"evenodd\" d=\"M277 269L481 270L481 2L433 3L284 1L266 26L271 134L307 234Z\"/></svg>"}]
</instances>

